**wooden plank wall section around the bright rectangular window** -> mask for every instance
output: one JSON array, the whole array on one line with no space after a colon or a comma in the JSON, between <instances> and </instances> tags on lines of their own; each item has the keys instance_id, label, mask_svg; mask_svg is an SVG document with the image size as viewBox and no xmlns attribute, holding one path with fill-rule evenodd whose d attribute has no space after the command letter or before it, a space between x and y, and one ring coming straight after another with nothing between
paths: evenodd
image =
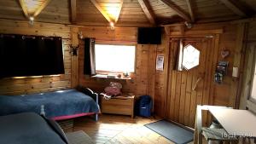
<instances>
[{"instance_id":1,"label":"wooden plank wall section around the bright rectangular window","mask_svg":"<svg viewBox=\"0 0 256 144\"><path fill-rule=\"evenodd\" d=\"M133 93L135 95L151 95L154 91L160 90L155 88L163 87L158 77L160 72L155 72L155 57L157 53L163 53L165 44L148 45L137 44L137 28L135 27L115 27L112 31L108 26L84 26L79 29L83 32L84 37L95 37L96 43L126 43L135 44L136 49L136 72L131 74L131 80L116 80L104 78L90 78L84 76L84 42L79 41L79 84L87 86L97 92L102 92L112 81L117 81L123 85L124 93ZM157 80L154 83L154 78ZM160 101L160 97L156 100Z\"/></svg>"}]
</instances>

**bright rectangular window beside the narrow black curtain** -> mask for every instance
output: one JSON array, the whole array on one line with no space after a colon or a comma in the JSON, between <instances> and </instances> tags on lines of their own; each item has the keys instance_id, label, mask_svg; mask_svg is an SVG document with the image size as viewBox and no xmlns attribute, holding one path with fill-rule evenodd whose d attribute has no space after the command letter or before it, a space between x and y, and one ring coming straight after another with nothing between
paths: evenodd
<instances>
[{"instance_id":1,"label":"bright rectangular window beside the narrow black curtain","mask_svg":"<svg viewBox=\"0 0 256 144\"><path fill-rule=\"evenodd\" d=\"M134 72L135 46L96 44L96 72Z\"/></svg>"}]
</instances>

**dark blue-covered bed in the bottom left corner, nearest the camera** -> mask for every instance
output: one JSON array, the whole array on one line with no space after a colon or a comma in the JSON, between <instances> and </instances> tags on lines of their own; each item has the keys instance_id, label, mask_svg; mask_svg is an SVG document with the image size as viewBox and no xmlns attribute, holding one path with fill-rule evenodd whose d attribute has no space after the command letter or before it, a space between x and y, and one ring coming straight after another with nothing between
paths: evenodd
<instances>
[{"instance_id":1,"label":"dark blue-covered bed in the bottom left corner, nearest the camera","mask_svg":"<svg viewBox=\"0 0 256 144\"><path fill-rule=\"evenodd\" d=\"M0 116L0 143L67 144L61 127L34 112Z\"/></svg>"}]
</instances>

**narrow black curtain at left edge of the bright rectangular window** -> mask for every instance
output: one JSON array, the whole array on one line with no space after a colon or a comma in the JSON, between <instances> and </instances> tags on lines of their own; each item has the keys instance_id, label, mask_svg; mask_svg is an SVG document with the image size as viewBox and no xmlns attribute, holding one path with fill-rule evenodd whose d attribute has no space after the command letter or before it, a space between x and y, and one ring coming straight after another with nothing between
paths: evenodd
<instances>
[{"instance_id":1,"label":"narrow black curtain at left edge of the bright rectangular window","mask_svg":"<svg viewBox=\"0 0 256 144\"><path fill-rule=\"evenodd\" d=\"M96 75L95 38L84 38L84 74Z\"/></svg>"}]
</instances>

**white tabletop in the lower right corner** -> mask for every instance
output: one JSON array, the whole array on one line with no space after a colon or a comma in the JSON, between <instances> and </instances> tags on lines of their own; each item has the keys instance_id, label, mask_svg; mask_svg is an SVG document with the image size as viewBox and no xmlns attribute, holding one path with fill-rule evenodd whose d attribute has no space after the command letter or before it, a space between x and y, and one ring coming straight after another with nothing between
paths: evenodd
<instances>
[{"instance_id":1,"label":"white tabletop in the lower right corner","mask_svg":"<svg viewBox=\"0 0 256 144\"><path fill-rule=\"evenodd\" d=\"M256 116L252 112L219 107L208 109L228 134L256 137Z\"/></svg>"}]
</instances>

